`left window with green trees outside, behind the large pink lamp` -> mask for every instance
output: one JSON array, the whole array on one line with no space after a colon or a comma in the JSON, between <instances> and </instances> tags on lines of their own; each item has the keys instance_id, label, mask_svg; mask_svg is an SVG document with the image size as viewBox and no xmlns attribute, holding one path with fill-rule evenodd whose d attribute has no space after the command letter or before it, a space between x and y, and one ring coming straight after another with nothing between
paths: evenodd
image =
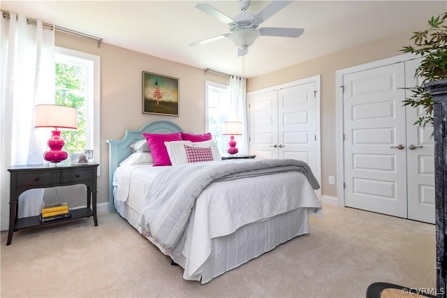
<instances>
[{"instance_id":1,"label":"left window with green trees outside, behind the large pink lamp","mask_svg":"<svg viewBox=\"0 0 447 298\"><path fill-rule=\"evenodd\" d=\"M56 47L55 62L55 103L78 109L78 130L61 133L64 150L83 153L93 149L94 161L98 162L100 59L96 55Z\"/></svg>"}]
</instances>

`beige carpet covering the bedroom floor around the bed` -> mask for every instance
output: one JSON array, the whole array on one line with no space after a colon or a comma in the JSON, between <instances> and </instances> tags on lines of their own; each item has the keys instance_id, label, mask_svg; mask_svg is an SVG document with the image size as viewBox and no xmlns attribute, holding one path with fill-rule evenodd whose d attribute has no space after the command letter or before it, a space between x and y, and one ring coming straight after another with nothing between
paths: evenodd
<instances>
[{"instance_id":1,"label":"beige carpet covering the bedroom floor around the bed","mask_svg":"<svg viewBox=\"0 0 447 298\"><path fill-rule=\"evenodd\" d=\"M1 297L365 297L436 285L434 225L325 206L311 234L201 285L117 214L1 232Z\"/></svg>"}]
</instances>

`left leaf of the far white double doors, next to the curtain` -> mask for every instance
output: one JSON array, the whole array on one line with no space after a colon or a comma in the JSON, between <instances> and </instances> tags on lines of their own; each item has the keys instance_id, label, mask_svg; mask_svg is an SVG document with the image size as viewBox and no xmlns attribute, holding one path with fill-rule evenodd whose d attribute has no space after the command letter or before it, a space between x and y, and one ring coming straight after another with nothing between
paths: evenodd
<instances>
[{"instance_id":1,"label":"left leaf of the far white double doors, next to the curtain","mask_svg":"<svg viewBox=\"0 0 447 298\"><path fill-rule=\"evenodd\" d=\"M278 157L277 91L249 96L250 154L258 158Z\"/></svg>"}]
</instances>

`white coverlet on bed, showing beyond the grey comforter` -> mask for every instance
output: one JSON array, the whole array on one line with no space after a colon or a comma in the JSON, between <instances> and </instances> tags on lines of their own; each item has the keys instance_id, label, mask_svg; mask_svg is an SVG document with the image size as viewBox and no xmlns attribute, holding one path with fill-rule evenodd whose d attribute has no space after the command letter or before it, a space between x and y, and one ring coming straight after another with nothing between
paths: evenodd
<instances>
[{"instance_id":1,"label":"white coverlet on bed, showing beyond the grey comforter","mask_svg":"<svg viewBox=\"0 0 447 298\"><path fill-rule=\"evenodd\" d=\"M133 209L141 211L143 204L135 196L142 200L148 198L148 185L163 168L166 169L150 165L119 167L114 177L115 195L119 194L119 198L115 199L127 200ZM142 184L143 181L149 183ZM138 186L139 191L133 186ZM162 251L173 260L183 255L186 258L184 278L197 280L200 267L210 255L212 238L231 234L258 218L270 218L300 207L321 208L314 189L300 172L216 182L205 188L196 200L186 232L177 246Z\"/></svg>"}]
</instances>

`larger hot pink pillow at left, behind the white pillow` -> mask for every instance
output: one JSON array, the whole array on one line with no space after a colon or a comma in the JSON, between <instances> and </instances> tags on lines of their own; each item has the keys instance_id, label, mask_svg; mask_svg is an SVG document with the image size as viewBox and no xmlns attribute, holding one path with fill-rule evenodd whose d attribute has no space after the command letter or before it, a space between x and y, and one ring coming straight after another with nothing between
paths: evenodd
<instances>
[{"instance_id":1,"label":"larger hot pink pillow at left, behind the white pillow","mask_svg":"<svg viewBox=\"0 0 447 298\"><path fill-rule=\"evenodd\" d=\"M143 133L149 149L151 149L154 166L171 165L165 142L181 141L182 133Z\"/></svg>"}]
</instances>

